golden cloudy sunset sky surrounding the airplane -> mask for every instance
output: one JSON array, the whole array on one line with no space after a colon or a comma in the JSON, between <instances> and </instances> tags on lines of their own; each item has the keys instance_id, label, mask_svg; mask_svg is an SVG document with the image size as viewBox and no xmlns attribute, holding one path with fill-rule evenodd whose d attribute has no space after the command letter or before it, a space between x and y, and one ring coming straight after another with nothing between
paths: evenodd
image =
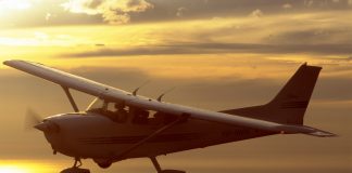
<instances>
[{"instance_id":1,"label":"golden cloudy sunset sky surrounding the airplane","mask_svg":"<svg viewBox=\"0 0 352 173\"><path fill-rule=\"evenodd\" d=\"M264 104L307 62L323 67L305 123L339 137L271 136L161 157L191 173L352 172L352 0L0 0L0 61L28 59L211 110ZM60 86L0 66L0 173L52 173L28 108L72 111ZM81 109L92 97L74 93ZM153 172L147 159L103 173Z\"/></svg>"}]
</instances>

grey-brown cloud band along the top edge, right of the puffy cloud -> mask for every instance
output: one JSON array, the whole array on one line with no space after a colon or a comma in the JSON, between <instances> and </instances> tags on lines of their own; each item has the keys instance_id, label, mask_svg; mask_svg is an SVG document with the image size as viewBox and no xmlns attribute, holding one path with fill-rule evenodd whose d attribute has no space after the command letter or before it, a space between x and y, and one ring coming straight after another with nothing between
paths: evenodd
<instances>
[{"instance_id":1,"label":"grey-brown cloud band along the top edge, right of the puffy cloud","mask_svg":"<svg viewBox=\"0 0 352 173\"><path fill-rule=\"evenodd\" d=\"M133 22L179 19L175 14L178 13L180 8L187 9L187 14L183 15L183 19L243 17L255 11L261 12L261 14L273 15L352 9L352 5L348 5L348 0L340 0L339 2L314 0L310 3L306 0L272 0L269 3L266 0L150 0L150 2L154 5L154 9L142 14L133 14Z\"/></svg>"}]
</instances>

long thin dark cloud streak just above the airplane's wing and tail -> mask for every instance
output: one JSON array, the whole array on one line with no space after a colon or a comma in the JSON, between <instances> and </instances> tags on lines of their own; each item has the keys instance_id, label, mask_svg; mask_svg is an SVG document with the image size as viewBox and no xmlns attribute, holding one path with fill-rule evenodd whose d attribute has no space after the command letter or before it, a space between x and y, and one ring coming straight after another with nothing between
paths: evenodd
<instances>
[{"instance_id":1,"label":"long thin dark cloud streak just above the airplane's wing and tail","mask_svg":"<svg viewBox=\"0 0 352 173\"><path fill-rule=\"evenodd\" d=\"M250 43L179 43L140 46L126 50L101 49L92 52L64 54L63 57L137 56L173 54L352 54L352 44L250 44Z\"/></svg>"}]
</instances>

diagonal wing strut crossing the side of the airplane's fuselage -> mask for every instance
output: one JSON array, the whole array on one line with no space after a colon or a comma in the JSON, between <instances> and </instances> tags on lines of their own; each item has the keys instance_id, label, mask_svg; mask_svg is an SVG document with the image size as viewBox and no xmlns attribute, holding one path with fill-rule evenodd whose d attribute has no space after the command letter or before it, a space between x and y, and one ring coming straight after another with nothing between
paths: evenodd
<instances>
[{"instance_id":1,"label":"diagonal wing strut crossing the side of the airplane's fuselage","mask_svg":"<svg viewBox=\"0 0 352 173\"><path fill-rule=\"evenodd\" d=\"M161 129L156 130L155 132L153 132L152 134L150 134L149 136L147 136L146 138L141 139L140 142L134 144L133 146L130 146L129 148L127 148L126 150L124 150L123 152L121 152L120 155L117 155L117 159L123 159L126 155L128 155L130 151L135 150L136 148L138 148L139 146L146 144L148 141L150 141L151 138L155 137L156 135L161 134L162 132L166 131L167 129L174 127L175 124L177 124L178 122L183 122L185 120L187 120L190 117L190 115L188 114L184 114L181 116L179 116L177 118L177 120L162 127Z\"/></svg>"}]
</instances>

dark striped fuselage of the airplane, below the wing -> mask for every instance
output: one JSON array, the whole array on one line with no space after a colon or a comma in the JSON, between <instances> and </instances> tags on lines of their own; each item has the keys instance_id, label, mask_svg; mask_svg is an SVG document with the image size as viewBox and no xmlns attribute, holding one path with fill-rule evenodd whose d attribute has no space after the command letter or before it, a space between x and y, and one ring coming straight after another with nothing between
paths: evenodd
<instances>
[{"instance_id":1,"label":"dark striped fuselage of the airplane, below the wing","mask_svg":"<svg viewBox=\"0 0 352 173\"><path fill-rule=\"evenodd\" d=\"M152 119L143 124L134 123L131 120L121 123L95 112L58 115L45 121L54 123L60 129L45 132L55 151L71 157L111 161L155 157L274 134L190 118L122 156L131 145L163 128L164 123L152 122Z\"/></svg>"}]
</instances>

